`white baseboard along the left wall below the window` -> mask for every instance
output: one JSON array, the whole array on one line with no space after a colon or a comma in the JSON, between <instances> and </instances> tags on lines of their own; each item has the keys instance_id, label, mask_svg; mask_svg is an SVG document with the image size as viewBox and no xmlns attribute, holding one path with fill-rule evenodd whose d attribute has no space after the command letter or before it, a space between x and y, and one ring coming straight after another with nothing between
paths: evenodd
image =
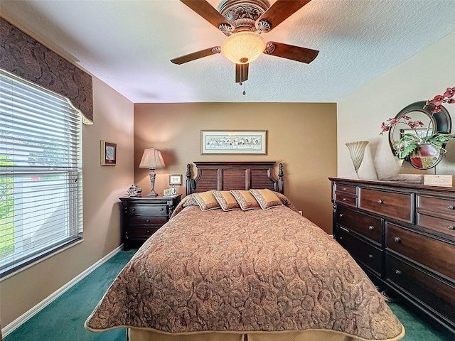
<instances>
[{"instance_id":1,"label":"white baseboard along the left wall below the window","mask_svg":"<svg viewBox=\"0 0 455 341\"><path fill-rule=\"evenodd\" d=\"M64 286L61 288L58 288L58 290L54 291L51 293L48 297L46 297L43 301L35 305L33 308L30 310L26 311L26 313L23 313L21 316L16 318L13 322L9 323L9 325L6 325L4 328L1 328L1 335L3 337L6 337L7 335L11 334L11 332L14 332L17 328L19 328L23 323L26 323L27 320L33 318L34 315L39 313L41 310L43 310L47 305L55 301L58 297L62 296L65 291L68 291L72 286L74 286L76 283L81 281L85 276L90 274L92 271L97 269L100 265L108 261L109 259L112 258L115 254L117 254L119 251L123 249L123 244L117 247L117 249L114 249L113 251L109 252L106 256L104 256L102 259L97 261L95 264L90 266L89 268L85 269L85 271L82 271L79 275L75 276L71 281L66 283Z\"/></svg>"}]
</instances>

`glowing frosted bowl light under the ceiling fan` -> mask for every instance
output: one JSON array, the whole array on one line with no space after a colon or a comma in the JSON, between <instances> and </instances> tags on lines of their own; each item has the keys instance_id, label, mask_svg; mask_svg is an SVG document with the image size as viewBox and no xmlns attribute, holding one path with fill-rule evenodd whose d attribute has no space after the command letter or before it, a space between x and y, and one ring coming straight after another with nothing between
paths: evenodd
<instances>
[{"instance_id":1,"label":"glowing frosted bowl light under the ceiling fan","mask_svg":"<svg viewBox=\"0 0 455 341\"><path fill-rule=\"evenodd\" d=\"M232 63L251 63L265 49L265 39L254 32L239 32L229 36L221 44L221 53Z\"/></svg>"}]
</instances>

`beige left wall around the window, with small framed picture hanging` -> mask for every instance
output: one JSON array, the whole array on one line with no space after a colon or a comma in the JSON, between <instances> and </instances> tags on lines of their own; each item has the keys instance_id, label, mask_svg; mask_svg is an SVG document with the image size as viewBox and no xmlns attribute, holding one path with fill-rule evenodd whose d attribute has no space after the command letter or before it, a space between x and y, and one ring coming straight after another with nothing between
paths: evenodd
<instances>
[{"instance_id":1,"label":"beige left wall around the window, with small framed picture hanging","mask_svg":"<svg viewBox=\"0 0 455 341\"><path fill-rule=\"evenodd\" d=\"M119 200L133 181L133 104L93 77L95 124L83 128L84 241L0 282L2 327L120 244ZM116 142L117 166L100 166L100 140Z\"/></svg>"}]
</instances>

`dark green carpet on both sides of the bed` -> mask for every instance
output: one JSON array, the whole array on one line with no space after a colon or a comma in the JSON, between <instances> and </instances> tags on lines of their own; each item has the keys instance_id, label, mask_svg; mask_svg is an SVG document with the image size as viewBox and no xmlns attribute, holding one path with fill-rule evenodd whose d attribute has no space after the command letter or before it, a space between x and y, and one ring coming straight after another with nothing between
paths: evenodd
<instances>
[{"instance_id":1,"label":"dark green carpet on both sides of the bed","mask_svg":"<svg viewBox=\"0 0 455 341\"><path fill-rule=\"evenodd\" d=\"M23 323L4 341L124 341L126 330L89 332L84 322L103 293L133 256L134 251L120 251L65 294ZM390 308L406 328L403 341L451 341L455 335L437 330L399 303Z\"/></svg>"}]
</instances>

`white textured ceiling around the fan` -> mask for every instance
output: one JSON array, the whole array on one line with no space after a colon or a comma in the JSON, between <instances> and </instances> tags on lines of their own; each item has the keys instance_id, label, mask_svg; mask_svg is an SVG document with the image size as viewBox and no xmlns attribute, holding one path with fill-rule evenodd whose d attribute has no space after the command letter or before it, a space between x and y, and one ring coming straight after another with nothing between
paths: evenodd
<instances>
[{"instance_id":1,"label":"white textured ceiling around the fan","mask_svg":"<svg viewBox=\"0 0 455 341\"><path fill-rule=\"evenodd\" d=\"M455 31L453 0L312 0L264 38L316 60L261 55L242 95L223 55L169 61L225 39L178 0L1 0L0 13L134 103L338 102Z\"/></svg>"}]
</instances>

